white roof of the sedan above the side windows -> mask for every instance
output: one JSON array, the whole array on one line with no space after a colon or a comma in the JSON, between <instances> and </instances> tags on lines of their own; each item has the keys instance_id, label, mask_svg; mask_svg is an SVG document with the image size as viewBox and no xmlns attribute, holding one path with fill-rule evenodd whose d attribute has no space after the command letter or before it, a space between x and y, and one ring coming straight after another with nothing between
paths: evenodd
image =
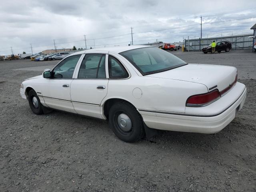
<instances>
[{"instance_id":1,"label":"white roof of the sedan above the side windows","mask_svg":"<svg viewBox=\"0 0 256 192\"><path fill-rule=\"evenodd\" d=\"M70 55L94 53L94 52L98 52L98 51L109 51L109 52L114 52L114 53L121 53L121 52L124 52L124 51L138 49L138 48L144 48L144 47L152 47L152 46L131 45L131 46L104 47L104 48L95 48L95 49L83 50L83 51L75 52L75 53L70 54Z\"/></svg>"}]
</instances>

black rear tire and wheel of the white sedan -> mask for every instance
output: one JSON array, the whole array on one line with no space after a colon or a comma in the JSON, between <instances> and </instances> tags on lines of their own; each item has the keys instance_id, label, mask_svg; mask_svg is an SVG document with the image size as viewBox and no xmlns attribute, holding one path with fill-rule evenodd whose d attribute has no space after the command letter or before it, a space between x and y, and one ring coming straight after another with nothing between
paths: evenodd
<instances>
[{"instance_id":1,"label":"black rear tire and wheel of the white sedan","mask_svg":"<svg viewBox=\"0 0 256 192\"><path fill-rule=\"evenodd\" d=\"M120 115L124 115L129 118L131 122L131 128L130 130L123 130L124 126L121 128L122 120L119 121L120 124L118 124L118 119ZM125 119L125 118L124 118ZM125 126L129 125L129 122L127 119L125 121ZM144 136L144 126L142 122L142 118L136 108L132 106L132 104L128 102L117 102L115 103L109 111L109 124L112 128L114 134L120 139L125 142L136 142L140 140ZM127 128L127 127L125 127ZM129 128L129 127L128 127Z\"/></svg>"}]
</instances>

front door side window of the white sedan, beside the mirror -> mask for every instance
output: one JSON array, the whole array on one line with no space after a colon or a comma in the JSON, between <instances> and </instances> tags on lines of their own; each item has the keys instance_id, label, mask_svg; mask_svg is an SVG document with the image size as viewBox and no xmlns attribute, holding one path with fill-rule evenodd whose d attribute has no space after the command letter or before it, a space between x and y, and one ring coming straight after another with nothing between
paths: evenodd
<instances>
[{"instance_id":1,"label":"front door side window of the white sedan, beside the mirror","mask_svg":"<svg viewBox=\"0 0 256 192\"><path fill-rule=\"evenodd\" d=\"M81 55L65 58L53 70L53 78L72 79L74 69Z\"/></svg>"}]
</instances>

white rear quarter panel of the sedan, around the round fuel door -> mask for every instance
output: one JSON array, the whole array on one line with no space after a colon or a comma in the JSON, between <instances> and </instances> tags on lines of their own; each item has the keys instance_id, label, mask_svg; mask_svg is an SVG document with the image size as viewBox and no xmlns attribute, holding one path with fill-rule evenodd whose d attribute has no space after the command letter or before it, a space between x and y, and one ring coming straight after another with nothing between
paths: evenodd
<instances>
[{"instance_id":1,"label":"white rear quarter panel of the sedan, around the round fuel door","mask_svg":"<svg viewBox=\"0 0 256 192\"><path fill-rule=\"evenodd\" d=\"M136 99L133 90L140 88L142 96ZM189 96L208 92L203 84L180 80L134 76L126 80L109 80L109 98L121 98L132 103L137 109L185 112Z\"/></svg>"}]
</instances>

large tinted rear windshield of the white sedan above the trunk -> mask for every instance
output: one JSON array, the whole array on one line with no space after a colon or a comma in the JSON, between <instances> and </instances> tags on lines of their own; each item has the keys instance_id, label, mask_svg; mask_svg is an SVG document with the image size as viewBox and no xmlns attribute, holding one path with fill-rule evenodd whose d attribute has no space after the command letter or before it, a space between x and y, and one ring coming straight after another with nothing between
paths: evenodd
<instances>
[{"instance_id":1,"label":"large tinted rear windshield of the white sedan above the trunk","mask_svg":"<svg viewBox=\"0 0 256 192\"><path fill-rule=\"evenodd\" d=\"M142 75L158 73L187 64L173 54L154 47L129 50L120 55L129 60Z\"/></svg>"}]
</instances>

